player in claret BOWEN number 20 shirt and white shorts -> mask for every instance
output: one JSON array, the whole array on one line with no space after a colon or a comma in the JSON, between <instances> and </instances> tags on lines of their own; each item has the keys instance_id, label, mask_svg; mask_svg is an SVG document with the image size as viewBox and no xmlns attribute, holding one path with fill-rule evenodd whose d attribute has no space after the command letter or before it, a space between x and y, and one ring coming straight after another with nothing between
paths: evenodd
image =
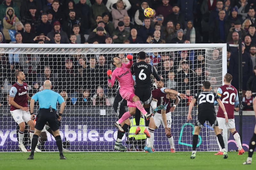
<instances>
[{"instance_id":1,"label":"player in claret BOWEN number 20 shirt and white shorts","mask_svg":"<svg viewBox=\"0 0 256 170\"><path fill-rule=\"evenodd\" d=\"M236 131L236 124L235 124L235 118L234 118L234 109L239 104L238 101L238 94L237 90L234 86L231 85L232 81L232 75L229 73L226 73L224 76L224 85L221 86L218 91L217 95L220 97L220 100L225 106L225 109L228 114L228 124L227 127L231 134L234 136L234 139L236 140L237 146L238 146L238 155L242 155L244 153L244 149L242 148L242 143L240 140L240 135ZM215 102L216 103L216 102ZM222 132L222 129L224 128L226 122L225 122L225 115L222 111L222 109L219 106L219 110L217 113L217 120L219 124L220 133ZM217 138L218 140L218 138ZM221 150L220 143L218 141L218 145L220 148L220 151L216 153L215 155L222 155L223 151Z\"/></svg>"}]
</instances>

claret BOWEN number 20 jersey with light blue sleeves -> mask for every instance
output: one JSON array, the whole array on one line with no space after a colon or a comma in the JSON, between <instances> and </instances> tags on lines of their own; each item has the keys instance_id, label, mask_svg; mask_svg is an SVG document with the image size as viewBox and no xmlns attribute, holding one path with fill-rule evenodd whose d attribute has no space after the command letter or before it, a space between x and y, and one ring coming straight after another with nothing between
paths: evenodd
<instances>
[{"instance_id":1,"label":"claret BOWEN number 20 jersey with light blue sleeves","mask_svg":"<svg viewBox=\"0 0 256 170\"><path fill-rule=\"evenodd\" d=\"M230 84L225 84L221 86L217 95L225 106L226 112L228 113L228 119L234 119L234 108L238 104L238 94L234 86ZM217 117L225 118L222 109L219 106Z\"/></svg>"}]
</instances>

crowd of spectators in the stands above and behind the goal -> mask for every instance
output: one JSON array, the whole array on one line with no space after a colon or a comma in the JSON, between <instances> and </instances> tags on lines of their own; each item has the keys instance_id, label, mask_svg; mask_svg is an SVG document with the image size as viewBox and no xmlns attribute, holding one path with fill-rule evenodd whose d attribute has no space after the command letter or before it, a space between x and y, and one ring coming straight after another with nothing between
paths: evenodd
<instances>
[{"instance_id":1,"label":"crowd of spectators in the stands above and behind the goal","mask_svg":"<svg viewBox=\"0 0 256 170\"><path fill-rule=\"evenodd\" d=\"M143 14L147 7L154 10L151 18ZM243 90L253 96L255 10L254 0L0 0L0 43L228 43L228 72L238 89L241 31ZM214 50L212 59L221 60L221 53ZM127 54L113 55L125 60ZM166 87L186 93L190 101L203 80L222 81L208 74L204 57L205 51L183 50L148 53L147 61L164 78ZM111 58L1 54L1 82L6 77L13 84L15 70L23 69L32 94L48 79L71 105L110 105L108 97L115 96L115 90L107 87Z\"/></svg>"}]
</instances>

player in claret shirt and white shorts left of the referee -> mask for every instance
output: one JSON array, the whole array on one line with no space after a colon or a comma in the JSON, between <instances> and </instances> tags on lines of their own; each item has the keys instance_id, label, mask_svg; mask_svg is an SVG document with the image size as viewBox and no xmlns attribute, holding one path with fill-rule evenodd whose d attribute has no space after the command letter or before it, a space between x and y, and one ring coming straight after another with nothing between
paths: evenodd
<instances>
[{"instance_id":1,"label":"player in claret shirt and white shorts left of the referee","mask_svg":"<svg viewBox=\"0 0 256 170\"><path fill-rule=\"evenodd\" d=\"M15 122L19 125L19 148L22 152L27 152L27 149L23 145L25 122L28 124L30 130L30 138L34 135L35 123L30 119L28 99L31 97L28 96L28 84L24 82L26 80L25 74L22 71L16 71L15 77L17 82L12 85L10 90L10 99L9 103L11 104L11 114ZM25 122L24 122L25 121ZM37 147L35 148L36 152L41 152Z\"/></svg>"}]
</instances>

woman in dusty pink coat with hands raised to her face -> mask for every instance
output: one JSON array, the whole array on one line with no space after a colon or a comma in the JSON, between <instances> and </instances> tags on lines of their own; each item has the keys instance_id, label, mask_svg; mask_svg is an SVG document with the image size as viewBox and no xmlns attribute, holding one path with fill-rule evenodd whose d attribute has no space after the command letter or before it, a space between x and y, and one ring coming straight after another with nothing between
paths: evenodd
<instances>
[{"instance_id":1,"label":"woman in dusty pink coat with hands raised to her face","mask_svg":"<svg viewBox=\"0 0 256 170\"><path fill-rule=\"evenodd\" d=\"M119 21L124 21L124 16L127 16L127 10L124 9L123 0L117 0L116 4L113 5L111 10L114 27L117 27Z\"/></svg>"}]
</instances>

